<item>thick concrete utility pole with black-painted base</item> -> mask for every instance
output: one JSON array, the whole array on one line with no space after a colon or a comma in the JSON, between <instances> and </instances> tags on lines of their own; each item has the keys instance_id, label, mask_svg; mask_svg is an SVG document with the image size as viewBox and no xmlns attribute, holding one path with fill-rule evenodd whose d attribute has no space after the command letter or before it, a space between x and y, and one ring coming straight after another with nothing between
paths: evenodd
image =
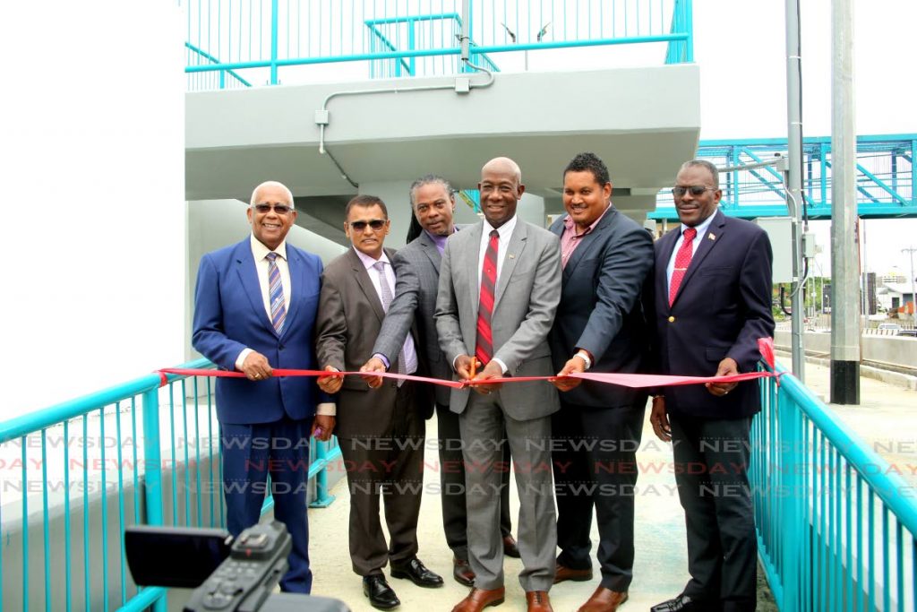
<instances>
[{"instance_id":1,"label":"thick concrete utility pole with black-painted base","mask_svg":"<svg viewBox=\"0 0 917 612\"><path fill-rule=\"evenodd\" d=\"M832 0L831 23L831 401L859 404L853 0Z\"/></svg>"}]
</instances>

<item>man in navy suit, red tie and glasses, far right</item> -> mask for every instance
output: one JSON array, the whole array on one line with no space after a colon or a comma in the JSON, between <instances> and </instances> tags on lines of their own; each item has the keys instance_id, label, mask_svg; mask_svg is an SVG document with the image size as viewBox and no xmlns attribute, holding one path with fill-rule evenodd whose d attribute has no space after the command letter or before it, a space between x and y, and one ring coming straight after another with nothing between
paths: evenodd
<instances>
[{"instance_id":1,"label":"man in navy suit, red tie and glasses, far right","mask_svg":"<svg viewBox=\"0 0 917 612\"><path fill-rule=\"evenodd\" d=\"M672 194L681 225L656 244L659 372L753 372L757 339L774 333L768 235L717 209L723 192L709 161L684 163ZM747 469L751 420L760 408L755 381L667 387L654 398L653 429L673 441L691 580L653 612L755 609L757 539Z\"/></svg>"}]
</instances>

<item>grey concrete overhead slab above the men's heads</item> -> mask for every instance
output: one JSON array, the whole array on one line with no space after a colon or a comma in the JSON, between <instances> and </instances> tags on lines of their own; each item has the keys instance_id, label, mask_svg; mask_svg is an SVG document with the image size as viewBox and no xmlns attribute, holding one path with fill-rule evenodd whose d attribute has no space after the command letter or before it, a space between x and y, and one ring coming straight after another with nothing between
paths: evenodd
<instances>
[{"instance_id":1,"label":"grey concrete overhead slab above the men's heads","mask_svg":"<svg viewBox=\"0 0 917 612\"><path fill-rule=\"evenodd\" d=\"M371 82L379 95L339 95L367 83L262 87L188 94L185 189L189 200L247 200L268 179L320 199L358 193L319 153L314 110L330 113L326 148L356 184L443 174L475 188L481 165L498 155L517 161L526 189L559 210L561 172L591 150L608 165L619 207L652 210L700 134L696 66L592 72L498 74L487 89L388 93L387 86L448 78ZM591 83L584 89L583 82ZM672 89L678 97L669 95ZM587 91L589 97L582 97ZM328 219L317 219L327 223Z\"/></svg>"}]
</instances>

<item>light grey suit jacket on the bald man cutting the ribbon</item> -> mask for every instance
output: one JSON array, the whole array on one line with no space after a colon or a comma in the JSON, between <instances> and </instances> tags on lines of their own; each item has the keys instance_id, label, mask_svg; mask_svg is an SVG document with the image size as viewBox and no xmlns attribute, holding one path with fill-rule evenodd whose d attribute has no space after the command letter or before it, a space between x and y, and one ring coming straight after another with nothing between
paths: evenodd
<instances>
[{"instance_id":1,"label":"light grey suit jacket on the bald man cutting the ribbon","mask_svg":"<svg viewBox=\"0 0 917 612\"><path fill-rule=\"evenodd\" d=\"M436 331L449 368L458 355L474 355L477 341L479 257L483 222L449 237L439 268ZM493 357L506 364L506 376L553 374L547 334L560 300L558 237L522 219L510 237L493 297ZM559 408L550 384L516 383L497 393L503 409L519 420L545 417ZM449 408L464 412L470 389L453 389Z\"/></svg>"}]
</instances>

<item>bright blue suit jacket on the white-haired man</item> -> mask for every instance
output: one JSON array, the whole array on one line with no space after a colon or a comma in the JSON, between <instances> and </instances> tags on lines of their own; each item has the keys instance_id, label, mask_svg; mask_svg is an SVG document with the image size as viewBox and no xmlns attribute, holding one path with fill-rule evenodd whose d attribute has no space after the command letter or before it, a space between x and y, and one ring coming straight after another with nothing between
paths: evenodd
<instances>
[{"instance_id":1,"label":"bright blue suit jacket on the white-haired man","mask_svg":"<svg viewBox=\"0 0 917 612\"><path fill-rule=\"evenodd\" d=\"M192 344L218 368L234 371L236 358L249 348L271 367L314 369L313 339L322 261L287 243L290 308L278 335L264 309L251 239L207 253L194 290ZM216 379L216 417L223 423L253 424L315 415L318 402L332 401L315 379L271 378L253 382Z\"/></svg>"}]
</instances>

